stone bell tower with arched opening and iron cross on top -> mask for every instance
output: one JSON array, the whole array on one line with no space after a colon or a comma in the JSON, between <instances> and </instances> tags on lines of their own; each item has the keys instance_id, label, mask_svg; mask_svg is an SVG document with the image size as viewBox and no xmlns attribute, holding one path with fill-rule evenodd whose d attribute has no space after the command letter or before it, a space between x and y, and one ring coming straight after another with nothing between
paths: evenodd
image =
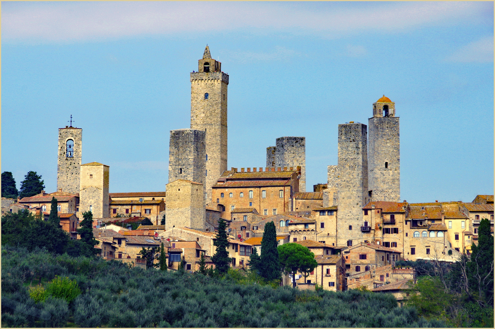
<instances>
[{"instance_id":1,"label":"stone bell tower with arched opening and iron cross on top","mask_svg":"<svg viewBox=\"0 0 495 329\"><path fill-rule=\"evenodd\" d=\"M79 193L82 146L81 128L58 129L57 190Z\"/></svg>"}]
</instances>

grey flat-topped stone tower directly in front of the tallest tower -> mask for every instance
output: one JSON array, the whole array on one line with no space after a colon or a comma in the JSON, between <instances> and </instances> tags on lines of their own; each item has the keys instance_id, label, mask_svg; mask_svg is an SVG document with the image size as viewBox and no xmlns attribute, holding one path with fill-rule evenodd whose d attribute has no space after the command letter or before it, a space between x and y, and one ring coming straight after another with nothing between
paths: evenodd
<instances>
[{"instance_id":1,"label":"grey flat-topped stone tower directly in front of the tallest tower","mask_svg":"<svg viewBox=\"0 0 495 329\"><path fill-rule=\"evenodd\" d=\"M182 179L203 184L204 188L206 178L205 137L204 130L177 129L170 131L169 183Z\"/></svg>"}]
</instances>

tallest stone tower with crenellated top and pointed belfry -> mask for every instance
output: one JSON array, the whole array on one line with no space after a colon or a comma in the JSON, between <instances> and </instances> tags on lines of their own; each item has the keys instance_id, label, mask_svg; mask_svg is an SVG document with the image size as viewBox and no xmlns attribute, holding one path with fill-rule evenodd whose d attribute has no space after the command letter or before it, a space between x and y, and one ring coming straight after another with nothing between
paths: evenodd
<instances>
[{"instance_id":1,"label":"tallest stone tower with crenellated top and pointed belfry","mask_svg":"<svg viewBox=\"0 0 495 329\"><path fill-rule=\"evenodd\" d=\"M206 46L198 72L191 73L191 129L206 133L206 203L211 202L211 187L227 170L228 84L229 76Z\"/></svg>"}]
</instances>

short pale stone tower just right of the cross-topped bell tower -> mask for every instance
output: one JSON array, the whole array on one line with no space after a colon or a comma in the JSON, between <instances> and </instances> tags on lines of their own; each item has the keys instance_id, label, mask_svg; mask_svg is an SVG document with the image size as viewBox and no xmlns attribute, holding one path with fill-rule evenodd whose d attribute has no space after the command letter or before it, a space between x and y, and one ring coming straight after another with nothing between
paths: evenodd
<instances>
[{"instance_id":1,"label":"short pale stone tower just right of the cross-topped bell tower","mask_svg":"<svg viewBox=\"0 0 495 329\"><path fill-rule=\"evenodd\" d=\"M99 162L81 165L81 189L79 213L93 212L93 218L110 217L108 206L108 183L110 167ZM82 219L82 215L79 217Z\"/></svg>"}]
</instances>

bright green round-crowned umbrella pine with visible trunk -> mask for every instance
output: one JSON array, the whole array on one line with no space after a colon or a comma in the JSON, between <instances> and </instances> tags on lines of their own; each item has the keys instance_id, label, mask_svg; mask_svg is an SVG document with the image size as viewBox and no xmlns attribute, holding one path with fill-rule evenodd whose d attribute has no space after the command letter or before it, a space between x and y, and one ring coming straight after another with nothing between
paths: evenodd
<instances>
[{"instance_id":1,"label":"bright green round-crowned umbrella pine with visible trunk","mask_svg":"<svg viewBox=\"0 0 495 329\"><path fill-rule=\"evenodd\" d=\"M278 247L280 264L286 273L292 275L292 285L296 287L296 273L313 271L318 265L314 253L298 243L285 243Z\"/></svg>"}]
</instances>

